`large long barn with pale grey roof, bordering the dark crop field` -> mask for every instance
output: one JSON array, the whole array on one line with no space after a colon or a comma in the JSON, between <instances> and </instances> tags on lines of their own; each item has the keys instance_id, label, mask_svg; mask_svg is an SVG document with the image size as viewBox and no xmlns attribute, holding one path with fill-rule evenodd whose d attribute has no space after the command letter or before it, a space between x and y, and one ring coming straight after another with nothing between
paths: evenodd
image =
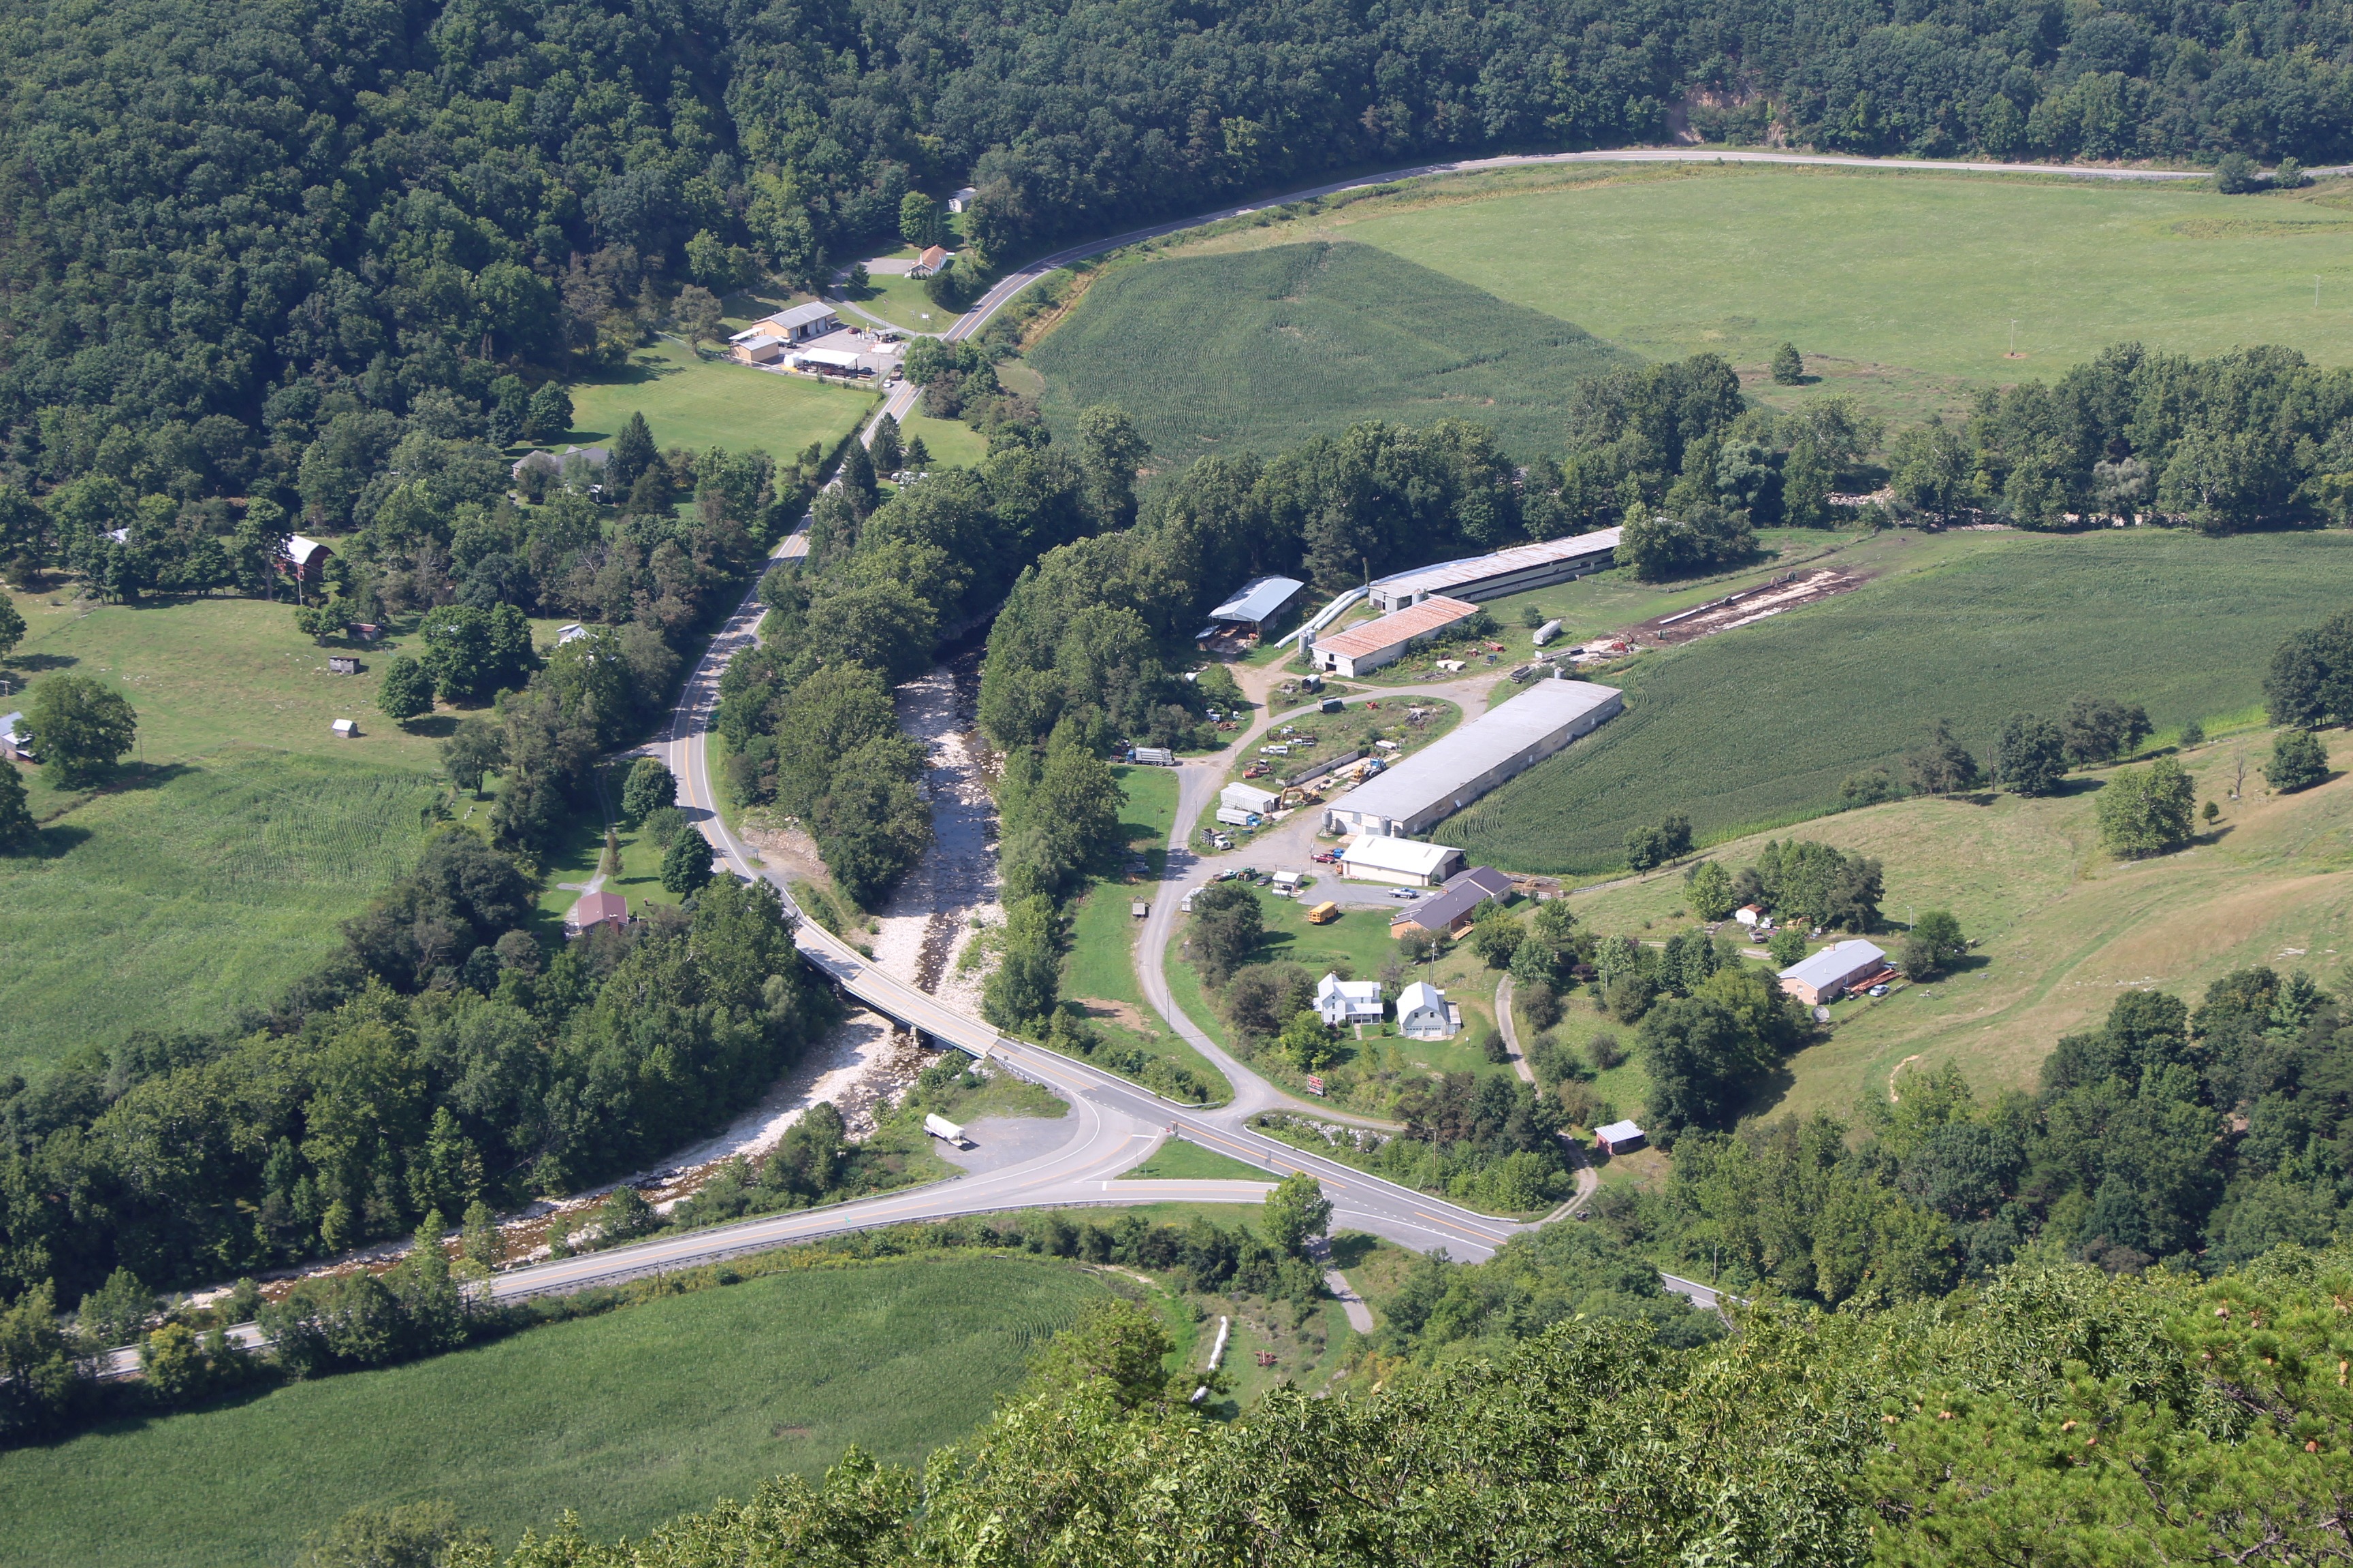
<instances>
[{"instance_id":1,"label":"large long barn with pale grey roof, bordering the dark crop field","mask_svg":"<svg viewBox=\"0 0 2353 1568\"><path fill-rule=\"evenodd\" d=\"M1541 679L1325 806L1325 832L1428 832L1626 708L1614 686Z\"/></svg>"}]
</instances>

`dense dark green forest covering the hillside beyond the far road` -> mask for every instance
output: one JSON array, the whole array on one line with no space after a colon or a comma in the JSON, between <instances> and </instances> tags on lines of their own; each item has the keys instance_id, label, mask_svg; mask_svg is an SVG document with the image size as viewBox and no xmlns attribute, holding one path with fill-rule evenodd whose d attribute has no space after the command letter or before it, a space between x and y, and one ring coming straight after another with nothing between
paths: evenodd
<instances>
[{"instance_id":1,"label":"dense dark green forest covering the hillside beyond the far road","mask_svg":"<svg viewBox=\"0 0 2353 1568\"><path fill-rule=\"evenodd\" d=\"M511 435L680 284L821 280L911 188L976 183L969 237L1005 256L1344 167L1659 139L1685 99L1718 136L1857 153L2334 160L2348 16L16 5L0 473L108 475L108 527L212 496L336 527L372 416Z\"/></svg>"}]
</instances>

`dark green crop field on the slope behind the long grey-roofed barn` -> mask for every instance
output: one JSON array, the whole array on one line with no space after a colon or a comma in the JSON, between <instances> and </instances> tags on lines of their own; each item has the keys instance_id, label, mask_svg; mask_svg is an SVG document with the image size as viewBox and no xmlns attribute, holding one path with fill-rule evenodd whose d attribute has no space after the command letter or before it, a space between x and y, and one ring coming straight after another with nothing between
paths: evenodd
<instances>
[{"instance_id":1,"label":"dark green crop field on the slope behind the long grey-roofed barn","mask_svg":"<svg viewBox=\"0 0 2353 1568\"><path fill-rule=\"evenodd\" d=\"M2344 607L2353 536L1904 531L1857 559L1880 574L1857 592L1640 656L1612 677L1624 715L1433 837L1591 875L1668 811L1701 842L1831 811L1849 773L1901 778L1937 719L1981 759L2007 715L2078 693L2212 729L2261 701L2280 637Z\"/></svg>"}]
</instances>

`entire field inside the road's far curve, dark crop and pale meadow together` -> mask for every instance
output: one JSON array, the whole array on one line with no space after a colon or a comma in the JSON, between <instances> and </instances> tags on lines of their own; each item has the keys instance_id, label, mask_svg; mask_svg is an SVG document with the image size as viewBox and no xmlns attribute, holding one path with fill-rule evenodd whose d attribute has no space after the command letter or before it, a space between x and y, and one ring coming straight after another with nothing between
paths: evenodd
<instances>
[{"instance_id":1,"label":"entire field inside the road's far curve, dark crop and pale meadow together","mask_svg":"<svg viewBox=\"0 0 2353 1568\"><path fill-rule=\"evenodd\" d=\"M2348 240L2341 183L2226 197L1922 172L1508 169L1181 244L1104 277L1031 360L1056 414L1120 402L1174 461L1449 411L1546 449L1567 381L1614 350L1713 350L1767 402L1852 393L1918 418L2122 339L2191 355L2289 343L2353 362ZM1285 299L1297 247L1313 242L1374 247L1461 292L1353 259ZM1522 374L1537 364L1525 348L1489 348L1562 324L1584 350L1560 374ZM1765 376L1784 341L1805 350L1809 386Z\"/></svg>"}]
</instances>

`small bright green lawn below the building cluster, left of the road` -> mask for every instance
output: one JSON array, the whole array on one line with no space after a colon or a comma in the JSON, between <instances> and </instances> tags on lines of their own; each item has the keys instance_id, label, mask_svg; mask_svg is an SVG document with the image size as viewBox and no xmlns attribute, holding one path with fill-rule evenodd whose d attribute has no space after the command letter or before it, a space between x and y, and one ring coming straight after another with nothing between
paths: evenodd
<instances>
[{"instance_id":1,"label":"small bright green lawn below the building cluster, left of the road","mask_svg":"<svg viewBox=\"0 0 2353 1568\"><path fill-rule=\"evenodd\" d=\"M828 449L875 409L875 393L826 386L807 376L699 360L671 339L640 348L607 381L572 383L572 442L612 440L631 414L645 414L656 447L760 447L791 458L809 442Z\"/></svg>"}]
</instances>

